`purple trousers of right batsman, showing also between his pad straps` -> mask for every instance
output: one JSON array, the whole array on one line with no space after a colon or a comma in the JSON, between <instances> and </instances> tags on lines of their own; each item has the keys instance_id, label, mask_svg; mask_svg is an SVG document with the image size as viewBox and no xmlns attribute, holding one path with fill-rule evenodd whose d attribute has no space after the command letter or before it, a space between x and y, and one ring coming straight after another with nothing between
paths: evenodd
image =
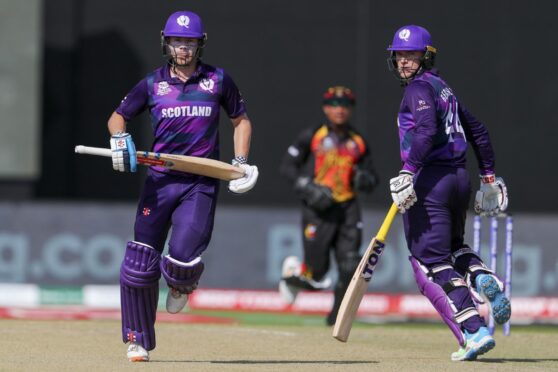
<instances>
[{"instance_id":1,"label":"purple trousers of right batsman, showing also between his pad straps","mask_svg":"<svg viewBox=\"0 0 558 372\"><path fill-rule=\"evenodd\" d=\"M425 166L415 176L414 188L417 202L403 214L407 245L411 255L430 270L445 265L453 267L433 275L434 282L444 286L452 279L462 278L452 253L465 246L465 219L471 194L469 173L465 168ZM476 308L466 287L456 288L448 297L458 312ZM484 325L484 320L474 315L461 326L472 333Z\"/></svg>"}]
</instances>

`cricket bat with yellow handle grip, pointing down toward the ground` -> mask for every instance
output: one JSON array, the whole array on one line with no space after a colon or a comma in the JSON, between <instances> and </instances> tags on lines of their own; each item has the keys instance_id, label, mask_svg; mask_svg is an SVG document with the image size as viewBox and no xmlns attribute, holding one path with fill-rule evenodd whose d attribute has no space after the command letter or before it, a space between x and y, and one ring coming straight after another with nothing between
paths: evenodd
<instances>
[{"instance_id":1,"label":"cricket bat with yellow handle grip, pointing down toward the ground","mask_svg":"<svg viewBox=\"0 0 558 372\"><path fill-rule=\"evenodd\" d=\"M364 256L362 256L353 278L349 283L349 287L345 292L345 296L343 296L343 301L341 302L341 307L339 308L339 313L337 313L337 319L335 320L335 326L333 327L333 337L341 342L347 342L349 338L349 333L351 333L351 327L355 320L358 307L368 288L368 283L370 279L372 279L376 264L384 251L384 243L397 211L397 206L393 203L380 230L368 245Z\"/></svg>"}]
</instances>

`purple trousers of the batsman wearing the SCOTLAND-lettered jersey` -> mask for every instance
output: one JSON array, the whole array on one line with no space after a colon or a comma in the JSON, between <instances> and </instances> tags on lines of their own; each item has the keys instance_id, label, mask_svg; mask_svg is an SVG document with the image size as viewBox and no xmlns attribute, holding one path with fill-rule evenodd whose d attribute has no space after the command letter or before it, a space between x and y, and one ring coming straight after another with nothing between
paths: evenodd
<instances>
[{"instance_id":1,"label":"purple trousers of the batsman wearing the SCOTLAND-lettered jersey","mask_svg":"<svg viewBox=\"0 0 558 372\"><path fill-rule=\"evenodd\" d=\"M172 226L169 254L182 262L201 255L213 231L219 181L148 170L134 226L134 240L162 252Z\"/></svg>"}]
</instances>

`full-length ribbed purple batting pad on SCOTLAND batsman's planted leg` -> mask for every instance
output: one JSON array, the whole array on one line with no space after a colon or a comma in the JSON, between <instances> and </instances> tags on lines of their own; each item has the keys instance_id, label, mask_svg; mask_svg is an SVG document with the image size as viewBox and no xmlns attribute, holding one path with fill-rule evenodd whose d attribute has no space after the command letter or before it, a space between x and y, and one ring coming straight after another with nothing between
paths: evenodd
<instances>
[{"instance_id":1,"label":"full-length ribbed purple batting pad on SCOTLAND batsman's planted leg","mask_svg":"<svg viewBox=\"0 0 558 372\"><path fill-rule=\"evenodd\" d=\"M148 245L128 242L120 267L122 339L155 348L155 314L159 301L161 255Z\"/></svg>"}]
</instances>

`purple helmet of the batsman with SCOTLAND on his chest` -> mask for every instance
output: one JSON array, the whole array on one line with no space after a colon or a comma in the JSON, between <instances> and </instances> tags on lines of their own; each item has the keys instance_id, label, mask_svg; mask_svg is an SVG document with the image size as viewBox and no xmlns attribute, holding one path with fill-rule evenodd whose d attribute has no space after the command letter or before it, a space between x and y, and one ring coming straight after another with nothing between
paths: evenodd
<instances>
[{"instance_id":1,"label":"purple helmet of the batsman with SCOTLAND on his chest","mask_svg":"<svg viewBox=\"0 0 558 372\"><path fill-rule=\"evenodd\" d=\"M198 39L199 45L196 53L197 57L201 58L202 48L205 46L207 34L204 32L203 22L199 15L185 10L170 15L165 24L165 28L161 31L161 47L164 57L171 55L168 50L166 39L173 36Z\"/></svg>"}]
</instances>

